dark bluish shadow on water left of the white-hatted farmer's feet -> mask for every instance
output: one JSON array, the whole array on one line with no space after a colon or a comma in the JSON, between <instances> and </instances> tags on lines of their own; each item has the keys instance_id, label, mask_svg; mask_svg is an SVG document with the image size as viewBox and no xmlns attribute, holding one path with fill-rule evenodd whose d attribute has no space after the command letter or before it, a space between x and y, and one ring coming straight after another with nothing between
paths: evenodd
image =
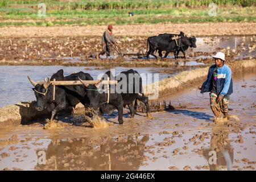
<instances>
[{"instance_id":1,"label":"dark bluish shadow on water left of the white-hatted farmer's feet","mask_svg":"<svg viewBox=\"0 0 256 182\"><path fill-rule=\"evenodd\" d=\"M205 119L207 121L211 121L210 118L212 118L212 116L210 116L209 114L205 114L197 111L183 110L183 109L169 110L169 112L174 114L184 114L184 115L188 115L189 117L193 117L196 119Z\"/></svg>"}]
</instances>

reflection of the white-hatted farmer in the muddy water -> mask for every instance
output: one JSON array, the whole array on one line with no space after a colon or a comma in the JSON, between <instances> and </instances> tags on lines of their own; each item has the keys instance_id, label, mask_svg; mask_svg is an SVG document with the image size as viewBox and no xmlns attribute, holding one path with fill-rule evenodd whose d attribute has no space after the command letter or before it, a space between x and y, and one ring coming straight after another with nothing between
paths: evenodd
<instances>
[{"instance_id":1,"label":"reflection of the white-hatted farmer in the muddy water","mask_svg":"<svg viewBox=\"0 0 256 182\"><path fill-rule=\"evenodd\" d=\"M220 124L222 125L222 124ZM229 130L224 126L215 126L212 129L210 148L203 150L204 158L207 159L210 170L232 170L234 150L228 138ZM213 152L216 152L216 160Z\"/></svg>"}]
</instances>

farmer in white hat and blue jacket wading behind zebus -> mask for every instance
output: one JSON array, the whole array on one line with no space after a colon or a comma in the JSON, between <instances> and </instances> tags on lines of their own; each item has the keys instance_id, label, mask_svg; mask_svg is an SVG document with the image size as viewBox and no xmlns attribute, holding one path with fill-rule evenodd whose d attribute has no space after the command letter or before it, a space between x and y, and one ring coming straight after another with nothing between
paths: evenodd
<instances>
[{"instance_id":1,"label":"farmer in white hat and blue jacket wading behind zebus","mask_svg":"<svg viewBox=\"0 0 256 182\"><path fill-rule=\"evenodd\" d=\"M225 64L225 54L217 52L213 56L215 64L210 66L207 80L199 87L201 93L210 92L210 109L216 118L222 114L228 117L229 96L233 93L232 72Z\"/></svg>"}]
</instances>

